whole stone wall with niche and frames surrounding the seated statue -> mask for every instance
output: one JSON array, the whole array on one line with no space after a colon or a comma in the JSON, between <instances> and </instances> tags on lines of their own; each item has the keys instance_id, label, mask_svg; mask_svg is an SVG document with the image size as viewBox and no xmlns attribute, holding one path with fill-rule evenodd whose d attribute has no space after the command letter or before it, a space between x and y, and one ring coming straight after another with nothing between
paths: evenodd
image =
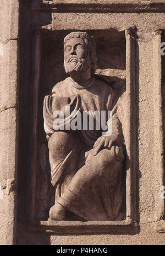
<instances>
[{"instance_id":1,"label":"whole stone wall with niche and frames surrounding the seated statue","mask_svg":"<svg viewBox=\"0 0 165 256\"><path fill-rule=\"evenodd\" d=\"M2 0L0 10L0 244L164 244L164 1ZM47 223L43 98L65 78L62 41L75 30L96 37L97 74L120 96L127 220L106 227Z\"/></svg>"}]
</instances>

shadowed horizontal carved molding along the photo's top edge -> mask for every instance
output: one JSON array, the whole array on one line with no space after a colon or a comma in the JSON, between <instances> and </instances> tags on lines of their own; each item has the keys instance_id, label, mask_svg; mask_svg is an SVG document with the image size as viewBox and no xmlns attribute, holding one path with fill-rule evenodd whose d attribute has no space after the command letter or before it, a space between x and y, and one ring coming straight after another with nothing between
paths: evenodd
<instances>
[{"instance_id":1,"label":"shadowed horizontal carved molding along the photo's top edge","mask_svg":"<svg viewBox=\"0 0 165 256\"><path fill-rule=\"evenodd\" d=\"M37 7L38 11L50 12L165 12L164 1L44 1Z\"/></svg>"}]
</instances>

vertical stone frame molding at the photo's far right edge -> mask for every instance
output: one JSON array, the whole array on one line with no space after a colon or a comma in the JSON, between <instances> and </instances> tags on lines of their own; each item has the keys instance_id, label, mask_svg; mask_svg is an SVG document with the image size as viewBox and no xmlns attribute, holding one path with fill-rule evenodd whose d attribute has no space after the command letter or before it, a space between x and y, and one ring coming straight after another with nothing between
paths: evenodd
<instances>
[{"instance_id":1,"label":"vertical stone frame molding at the photo's far right edge","mask_svg":"<svg viewBox=\"0 0 165 256\"><path fill-rule=\"evenodd\" d=\"M153 81L154 81L154 97L155 97L155 113L154 113L154 140L155 140L155 178L156 178L156 224L157 232L165 232L165 221L162 220L164 212L164 200L161 198L161 186L163 186L164 176L164 149L163 149L163 106L162 106L162 56L161 42L162 32L165 30L156 30L152 33L153 43Z\"/></svg>"}]
</instances>

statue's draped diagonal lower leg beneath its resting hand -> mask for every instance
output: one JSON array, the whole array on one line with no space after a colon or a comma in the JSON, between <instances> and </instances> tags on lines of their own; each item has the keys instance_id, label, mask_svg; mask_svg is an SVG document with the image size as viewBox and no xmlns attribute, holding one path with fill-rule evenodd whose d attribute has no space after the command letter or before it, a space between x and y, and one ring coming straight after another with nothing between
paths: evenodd
<instances>
[{"instance_id":1,"label":"statue's draped diagonal lower leg beneath its resting hand","mask_svg":"<svg viewBox=\"0 0 165 256\"><path fill-rule=\"evenodd\" d=\"M114 147L103 149L96 156L91 152L85 165L58 198L58 204L87 221L114 220L120 207L115 210L112 202L123 200L120 189L123 151L120 149L119 154L117 151Z\"/></svg>"}]
</instances>

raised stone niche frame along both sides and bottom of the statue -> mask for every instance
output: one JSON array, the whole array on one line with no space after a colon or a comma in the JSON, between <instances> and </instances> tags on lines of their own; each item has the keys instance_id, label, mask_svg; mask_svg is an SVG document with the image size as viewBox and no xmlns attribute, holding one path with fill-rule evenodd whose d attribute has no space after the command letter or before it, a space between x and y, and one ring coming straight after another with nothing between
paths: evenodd
<instances>
[{"instance_id":1,"label":"raised stone niche frame along both sides and bottom of the statue","mask_svg":"<svg viewBox=\"0 0 165 256\"><path fill-rule=\"evenodd\" d=\"M41 231L48 233L137 233L138 224L136 223L136 123L135 123L135 39L129 29L123 30L126 41L126 98L127 107L125 108L128 129L125 132L127 138L127 155L126 161L126 218L124 221L36 221L35 220L35 192L36 192L36 173L37 173L37 117L38 117L38 95L40 91L41 75L41 35L51 30L46 28L35 30L33 40L34 76L32 95L34 99L31 102L32 130L33 138L30 141L30 171L28 180L30 186L27 187L26 205L26 230ZM114 30L114 29L113 29ZM55 30L56 31L56 30ZM117 30L120 31L121 30ZM39 153L38 153L39 154Z\"/></svg>"}]
</instances>

